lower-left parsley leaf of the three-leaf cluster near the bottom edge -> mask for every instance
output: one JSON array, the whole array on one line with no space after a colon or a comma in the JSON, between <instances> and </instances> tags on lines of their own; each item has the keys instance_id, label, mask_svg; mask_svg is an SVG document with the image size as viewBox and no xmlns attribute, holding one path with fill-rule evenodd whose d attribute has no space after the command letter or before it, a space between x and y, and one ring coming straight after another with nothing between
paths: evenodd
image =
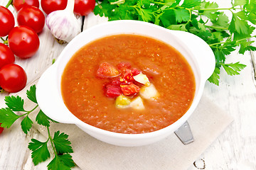
<instances>
[{"instance_id":1,"label":"lower-left parsley leaf of the three-leaf cluster near the bottom edge","mask_svg":"<svg viewBox=\"0 0 256 170\"><path fill-rule=\"evenodd\" d=\"M50 152L47 148L47 142L40 142L35 139L31 139L31 142L28 143L28 149L31 149L33 152L31 154L33 164L37 165L40 162L46 161L50 157Z\"/></svg>"}]
</instances>

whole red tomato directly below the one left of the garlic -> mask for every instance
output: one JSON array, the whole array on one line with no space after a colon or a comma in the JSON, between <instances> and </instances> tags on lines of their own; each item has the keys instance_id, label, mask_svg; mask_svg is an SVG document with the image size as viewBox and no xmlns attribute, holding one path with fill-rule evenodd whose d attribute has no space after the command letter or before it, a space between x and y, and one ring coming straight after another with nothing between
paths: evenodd
<instances>
[{"instance_id":1,"label":"whole red tomato directly below the one left of the garlic","mask_svg":"<svg viewBox=\"0 0 256 170\"><path fill-rule=\"evenodd\" d=\"M27 26L14 27L8 37L9 47L20 58L32 57L39 48L39 38L34 30Z\"/></svg>"}]
</instances>

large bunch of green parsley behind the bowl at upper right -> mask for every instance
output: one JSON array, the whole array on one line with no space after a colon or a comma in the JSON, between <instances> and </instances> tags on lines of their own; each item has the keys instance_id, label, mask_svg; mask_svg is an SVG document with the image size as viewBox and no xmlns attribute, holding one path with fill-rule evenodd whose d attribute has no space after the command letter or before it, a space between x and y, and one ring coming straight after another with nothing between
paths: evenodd
<instances>
[{"instance_id":1,"label":"large bunch of green parsley behind the bowl at upper right","mask_svg":"<svg viewBox=\"0 0 256 170\"><path fill-rule=\"evenodd\" d=\"M103 0L96 1L95 15L114 20L139 20L171 30L183 30L205 40L215 54L215 71L208 79L219 84L220 68L228 75L240 74L244 64L225 63L227 55L256 51L252 35L256 24L256 1L234 0L230 8L218 8L204 0ZM226 12L232 14L229 20Z\"/></svg>"}]
</instances>

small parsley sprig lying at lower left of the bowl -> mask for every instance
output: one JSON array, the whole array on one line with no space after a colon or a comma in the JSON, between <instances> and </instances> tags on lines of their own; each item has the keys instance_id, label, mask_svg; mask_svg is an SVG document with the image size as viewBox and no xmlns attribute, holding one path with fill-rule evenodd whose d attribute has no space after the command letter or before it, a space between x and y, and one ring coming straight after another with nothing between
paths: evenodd
<instances>
[{"instance_id":1,"label":"small parsley sprig lying at lower left of the bowl","mask_svg":"<svg viewBox=\"0 0 256 170\"><path fill-rule=\"evenodd\" d=\"M6 96L7 108L0 109L0 123L3 128L10 128L18 118L23 118L21 121L21 129L25 134L31 130L33 121L29 118L31 113L34 113L38 108L36 101L36 86L33 85L29 90L26 91L27 98L36 104L30 111L24 109L24 100L20 96ZM17 112L17 113L16 113ZM68 140L68 135L57 131L53 137L50 135L50 122L56 123L54 120L48 118L43 111L39 111L36 115L36 123L43 125L47 128L48 139L46 142L41 142L36 139L31 139L28 144L28 149L31 149L31 157L33 164L37 165L40 162L45 162L50 158L50 152L48 150L48 142L50 143L51 149L54 152L53 160L48 164L48 169L70 169L75 166L70 153L73 153L73 149L70 146L71 142Z\"/></svg>"}]
</instances>

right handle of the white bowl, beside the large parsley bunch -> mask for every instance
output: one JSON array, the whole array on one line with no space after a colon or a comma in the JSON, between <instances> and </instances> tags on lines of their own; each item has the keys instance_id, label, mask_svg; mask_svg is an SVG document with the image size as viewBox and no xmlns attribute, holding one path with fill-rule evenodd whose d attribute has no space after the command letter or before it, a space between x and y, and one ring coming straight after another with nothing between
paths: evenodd
<instances>
[{"instance_id":1,"label":"right handle of the white bowl, beside the large parsley bunch","mask_svg":"<svg viewBox=\"0 0 256 170\"><path fill-rule=\"evenodd\" d=\"M215 56L210 46L192 33L181 30L171 30L171 32L191 50L201 69L202 78L206 81L215 69Z\"/></svg>"}]
</instances>

